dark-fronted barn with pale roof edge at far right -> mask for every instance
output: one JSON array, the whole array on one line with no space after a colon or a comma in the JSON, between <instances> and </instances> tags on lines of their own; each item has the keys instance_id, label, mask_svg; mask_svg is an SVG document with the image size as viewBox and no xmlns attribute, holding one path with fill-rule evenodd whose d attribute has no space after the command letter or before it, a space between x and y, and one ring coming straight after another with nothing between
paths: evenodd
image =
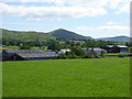
<instances>
[{"instance_id":1,"label":"dark-fronted barn with pale roof edge at far right","mask_svg":"<svg viewBox=\"0 0 132 99\"><path fill-rule=\"evenodd\" d=\"M109 45L105 46L103 50L107 51L107 53L128 53L129 47L122 46L122 45Z\"/></svg>"}]
</instances>

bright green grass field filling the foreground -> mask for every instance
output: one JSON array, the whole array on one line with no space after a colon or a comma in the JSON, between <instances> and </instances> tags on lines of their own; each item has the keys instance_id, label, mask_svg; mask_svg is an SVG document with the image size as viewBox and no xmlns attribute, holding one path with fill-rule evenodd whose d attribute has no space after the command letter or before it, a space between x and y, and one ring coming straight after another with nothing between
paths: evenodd
<instances>
[{"instance_id":1,"label":"bright green grass field filling the foreground","mask_svg":"<svg viewBox=\"0 0 132 99\"><path fill-rule=\"evenodd\" d=\"M3 97L129 97L130 58L2 63Z\"/></svg>"}]
</instances>

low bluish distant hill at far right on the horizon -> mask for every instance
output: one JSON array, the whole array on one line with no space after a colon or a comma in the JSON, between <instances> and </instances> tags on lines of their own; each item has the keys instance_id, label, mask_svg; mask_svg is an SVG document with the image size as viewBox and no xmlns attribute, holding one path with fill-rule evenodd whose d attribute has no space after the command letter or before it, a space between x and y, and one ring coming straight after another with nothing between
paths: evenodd
<instances>
[{"instance_id":1,"label":"low bluish distant hill at far right on the horizon","mask_svg":"<svg viewBox=\"0 0 132 99\"><path fill-rule=\"evenodd\" d=\"M129 36L100 37L97 41L130 42Z\"/></svg>"}]
</instances>

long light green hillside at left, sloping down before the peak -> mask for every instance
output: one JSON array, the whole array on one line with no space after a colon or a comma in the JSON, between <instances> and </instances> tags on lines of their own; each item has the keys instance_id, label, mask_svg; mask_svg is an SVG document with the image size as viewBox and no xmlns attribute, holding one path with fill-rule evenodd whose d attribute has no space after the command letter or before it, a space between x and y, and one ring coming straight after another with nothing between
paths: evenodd
<instances>
[{"instance_id":1,"label":"long light green hillside at left, sloping down before the peak","mask_svg":"<svg viewBox=\"0 0 132 99\"><path fill-rule=\"evenodd\" d=\"M7 38L7 40L20 40L20 41L47 41L51 38L55 38L55 36L47 35L40 32L19 32L19 31L8 31L2 30L2 34L0 34L0 37Z\"/></svg>"}]
</instances>

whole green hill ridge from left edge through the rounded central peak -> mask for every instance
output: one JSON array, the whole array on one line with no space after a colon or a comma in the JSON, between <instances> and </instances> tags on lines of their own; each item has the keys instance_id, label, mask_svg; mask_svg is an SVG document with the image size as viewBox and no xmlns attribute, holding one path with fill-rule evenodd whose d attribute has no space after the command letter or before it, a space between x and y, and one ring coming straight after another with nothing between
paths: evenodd
<instances>
[{"instance_id":1,"label":"whole green hill ridge from left edge through the rounded central peak","mask_svg":"<svg viewBox=\"0 0 132 99\"><path fill-rule=\"evenodd\" d=\"M0 38L6 38L6 40L19 40L19 41L47 41L56 37L63 37L67 40L91 40L90 36L82 36L77 33L58 29L55 31L52 31L50 33L42 33L42 32L34 32L34 31L29 31L29 32L21 32L21 31L9 31L4 29L0 29L2 33L0 34Z\"/></svg>"}]
</instances>

